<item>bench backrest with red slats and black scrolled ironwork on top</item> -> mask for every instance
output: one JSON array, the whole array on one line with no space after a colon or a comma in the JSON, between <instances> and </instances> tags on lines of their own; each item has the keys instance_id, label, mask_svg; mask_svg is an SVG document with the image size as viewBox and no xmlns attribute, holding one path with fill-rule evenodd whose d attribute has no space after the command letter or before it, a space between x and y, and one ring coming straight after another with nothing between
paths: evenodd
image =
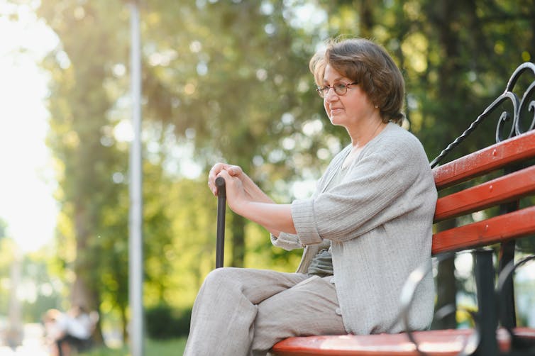
<instances>
[{"instance_id":1,"label":"bench backrest with red slats and black scrolled ironwork on top","mask_svg":"<svg viewBox=\"0 0 535 356\"><path fill-rule=\"evenodd\" d=\"M512 103L512 113L503 112L498 121L498 143L477 152L448 162L433 169L439 199L434 222L468 216L483 211L474 221L464 226L443 230L433 235L433 255L442 252L467 250L474 247L503 243L507 240L535 234L534 199L519 204L519 199L535 195L535 80L526 89L522 100L512 92L514 85L525 72L535 76L535 65L524 63L512 74L500 95L452 145L434 162L433 167L460 140L470 134L485 118L502 110L502 103ZM504 122L511 121L508 138L502 140ZM522 126L526 126L526 130ZM450 192L451 187L463 184L462 189ZM465 188L468 186L468 188ZM489 213L489 209L497 206ZM472 217L470 217L472 218ZM469 218L469 219L470 219ZM478 219L475 219L478 220Z\"/></svg>"}]
</instances>

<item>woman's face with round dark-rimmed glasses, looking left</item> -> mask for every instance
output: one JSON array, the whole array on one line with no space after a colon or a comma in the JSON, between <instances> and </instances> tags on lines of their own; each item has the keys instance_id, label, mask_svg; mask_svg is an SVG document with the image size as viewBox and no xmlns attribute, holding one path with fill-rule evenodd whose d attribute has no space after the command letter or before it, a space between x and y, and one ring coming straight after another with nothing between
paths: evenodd
<instances>
[{"instance_id":1,"label":"woman's face with round dark-rimmed glasses, looking left","mask_svg":"<svg viewBox=\"0 0 535 356\"><path fill-rule=\"evenodd\" d=\"M353 80L343 77L331 65L326 65L324 72L324 87L333 87L335 84L351 84ZM375 106L368 95L360 89L358 84L350 85L346 94L338 95L334 89L329 89L324 97L324 108L333 125L344 126L348 130L359 126L363 119L373 113Z\"/></svg>"}]
</instances>

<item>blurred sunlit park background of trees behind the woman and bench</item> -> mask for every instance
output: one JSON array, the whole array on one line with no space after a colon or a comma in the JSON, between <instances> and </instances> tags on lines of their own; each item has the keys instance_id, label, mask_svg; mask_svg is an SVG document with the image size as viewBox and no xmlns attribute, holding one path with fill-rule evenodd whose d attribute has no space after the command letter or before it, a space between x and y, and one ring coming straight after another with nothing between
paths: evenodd
<instances>
[{"instance_id":1,"label":"blurred sunlit park background of trees behind the woman and bench","mask_svg":"<svg viewBox=\"0 0 535 356\"><path fill-rule=\"evenodd\" d=\"M87 355L128 355L128 4L0 0L1 355L39 355L45 311L75 305L100 316ZM138 9L147 355L183 347L214 268L209 167L241 165L289 203L309 196L348 144L308 69L327 38L387 48L406 80L404 126L429 160L535 57L533 0L145 0ZM495 142L496 124L458 153ZM226 266L293 272L299 262L300 251L272 247L267 231L231 212L226 236ZM473 307L470 258L436 266L437 306ZM518 274L519 325L535 326L535 269Z\"/></svg>"}]
</instances>

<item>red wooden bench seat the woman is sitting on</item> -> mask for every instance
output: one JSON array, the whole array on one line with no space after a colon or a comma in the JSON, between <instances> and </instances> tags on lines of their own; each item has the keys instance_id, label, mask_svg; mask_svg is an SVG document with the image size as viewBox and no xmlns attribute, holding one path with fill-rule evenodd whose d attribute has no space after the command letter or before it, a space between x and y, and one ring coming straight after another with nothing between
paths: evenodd
<instances>
[{"instance_id":1,"label":"red wooden bench seat the woman is sitting on","mask_svg":"<svg viewBox=\"0 0 535 356\"><path fill-rule=\"evenodd\" d=\"M428 330L413 333L421 351L429 356L458 355L463 350L473 329ZM514 334L535 342L535 329L516 328ZM507 330L497 330L497 340L502 352L510 347ZM406 333L378 335L321 335L287 338L277 343L275 355L359 355L359 356L420 356Z\"/></svg>"}]
</instances>

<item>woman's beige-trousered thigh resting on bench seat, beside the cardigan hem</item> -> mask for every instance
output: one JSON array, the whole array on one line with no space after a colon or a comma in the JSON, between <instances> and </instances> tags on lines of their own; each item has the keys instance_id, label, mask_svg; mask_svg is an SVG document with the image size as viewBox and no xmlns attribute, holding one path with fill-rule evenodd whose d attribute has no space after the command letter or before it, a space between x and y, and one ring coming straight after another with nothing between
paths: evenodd
<instances>
[{"instance_id":1,"label":"woman's beige-trousered thigh resting on bench seat, beside the cardigan hem","mask_svg":"<svg viewBox=\"0 0 535 356\"><path fill-rule=\"evenodd\" d=\"M346 333L330 280L309 277L258 304L253 350L268 350L291 336Z\"/></svg>"}]
</instances>

